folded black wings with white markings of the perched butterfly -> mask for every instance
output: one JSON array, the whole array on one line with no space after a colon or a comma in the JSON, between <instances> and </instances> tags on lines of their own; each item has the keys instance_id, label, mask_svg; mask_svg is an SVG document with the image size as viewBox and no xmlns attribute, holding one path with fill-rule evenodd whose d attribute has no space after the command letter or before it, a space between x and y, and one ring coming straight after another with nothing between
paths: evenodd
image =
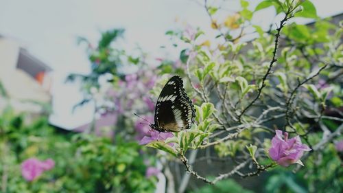
<instances>
[{"instance_id":1,"label":"folded black wings with white markings of the perched butterfly","mask_svg":"<svg viewBox=\"0 0 343 193\"><path fill-rule=\"evenodd\" d=\"M163 87L155 109L155 125L162 132L189 129L196 110L183 88L180 76L171 77Z\"/></svg>"}]
</instances>

